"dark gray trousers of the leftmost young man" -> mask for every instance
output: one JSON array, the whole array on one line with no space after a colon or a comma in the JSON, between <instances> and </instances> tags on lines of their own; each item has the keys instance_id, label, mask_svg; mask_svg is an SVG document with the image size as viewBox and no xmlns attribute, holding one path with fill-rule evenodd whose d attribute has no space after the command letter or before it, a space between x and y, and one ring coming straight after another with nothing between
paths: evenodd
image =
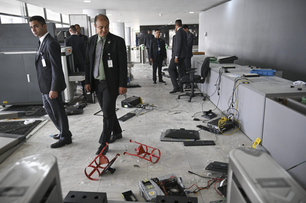
<instances>
[{"instance_id":1,"label":"dark gray trousers of the leftmost young man","mask_svg":"<svg viewBox=\"0 0 306 203\"><path fill-rule=\"evenodd\" d=\"M69 130L67 113L63 104L62 92L58 92L58 97L50 99L49 94L42 94L44 107L51 121L59 130L61 140L66 140L72 136Z\"/></svg>"}]
</instances>

